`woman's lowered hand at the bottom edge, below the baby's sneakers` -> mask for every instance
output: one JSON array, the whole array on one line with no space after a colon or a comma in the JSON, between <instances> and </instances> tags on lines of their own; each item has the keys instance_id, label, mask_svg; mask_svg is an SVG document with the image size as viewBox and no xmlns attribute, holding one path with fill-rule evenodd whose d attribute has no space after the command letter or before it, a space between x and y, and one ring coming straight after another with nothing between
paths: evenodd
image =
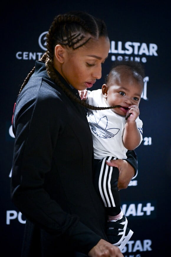
<instances>
[{"instance_id":1,"label":"woman's lowered hand at the bottom edge, below the baby's sneakers","mask_svg":"<svg viewBox=\"0 0 171 257\"><path fill-rule=\"evenodd\" d=\"M124 257L118 247L101 239L88 253L90 257Z\"/></svg>"}]
</instances>

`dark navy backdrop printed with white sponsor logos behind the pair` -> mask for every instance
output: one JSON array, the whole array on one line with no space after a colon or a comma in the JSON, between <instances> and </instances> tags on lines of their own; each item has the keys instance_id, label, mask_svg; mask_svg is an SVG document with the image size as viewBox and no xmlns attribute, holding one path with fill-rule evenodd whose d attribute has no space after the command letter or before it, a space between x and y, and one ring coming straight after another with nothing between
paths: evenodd
<instances>
[{"instance_id":1,"label":"dark navy backdrop printed with white sponsor logos behind the pair","mask_svg":"<svg viewBox=\"0 0 171 257\"><path fill-rule=\"evenodd\" d=\"M1 7L1 256L20 256L25 218L11 203L14 147L11 118L19 89L46 50L45 34L59 13L83 10L104 19L111 49L104 76L116 59L141 61L146 83L140 102L143 141L136 149L138 174L121 190L121 206L134 231L125 257L168 256L171 229L170 8L163 3L118 1L23 1ZM160 1L161 2L161 1ZM4 255L2 255L2 253ZM171 253L170 253L171 254Z\"/></svg>"}]
</instances>

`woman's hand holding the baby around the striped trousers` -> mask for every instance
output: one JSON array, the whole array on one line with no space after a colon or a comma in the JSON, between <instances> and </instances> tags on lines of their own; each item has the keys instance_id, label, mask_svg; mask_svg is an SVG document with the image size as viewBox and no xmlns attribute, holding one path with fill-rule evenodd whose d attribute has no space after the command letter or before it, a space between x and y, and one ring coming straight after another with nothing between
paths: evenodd
<instances>
[{"instance_id":1,"label":"woman's hand holding the baby around the striped trousers","mask_svg":"<svg viewBox=\"0 0 171 257\"><path fill-rule=\"evenodd\" d=\"M118 189L125 189L135 175L135 170L126 160L110 160L106 161L108 166L117 167L119 170Z\"/></svg>"}]
</instances>

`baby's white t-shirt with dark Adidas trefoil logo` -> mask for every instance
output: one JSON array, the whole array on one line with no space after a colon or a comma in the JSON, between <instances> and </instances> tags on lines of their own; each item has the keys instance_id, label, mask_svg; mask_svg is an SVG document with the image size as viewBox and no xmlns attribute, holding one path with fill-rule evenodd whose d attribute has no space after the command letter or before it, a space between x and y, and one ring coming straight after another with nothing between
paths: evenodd
<instances>
[{"instance_id":1,"label":"baby's white t-shirt with dark Adidas trefoil logo","mask_svg":"<svg viewBox=\"0 0 171 257\"><path fill-rule=\"evenodd\" d=\"M98 107L108 107L101 89L88 91L86 103ZM89 109L87 119L93 136L94 158L102 160L106 156L113 156L118 159L126 159L127 149L122 142L125 117L119 116L111 109ZM139 117L136 119L136 123L142 142L143 123Z\"/></svg>"}]
</instances>

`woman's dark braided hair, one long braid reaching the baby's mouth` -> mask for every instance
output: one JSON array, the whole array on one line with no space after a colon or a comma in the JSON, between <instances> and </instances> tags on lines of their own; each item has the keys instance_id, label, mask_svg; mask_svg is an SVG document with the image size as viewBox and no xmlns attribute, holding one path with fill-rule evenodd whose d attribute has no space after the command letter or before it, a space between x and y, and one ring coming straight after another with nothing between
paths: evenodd
<instances>
[{"instance_id":1,"label":"woman's dark braided hair, one long braid reaching the baby's mouth","mask_svg":"<svg viewBox=\"0 0 171 257\"><path fill-rule=\"evenodd\" d=\"M89 37L87 37L89 35ZM53 57L54 49L57 44L66 45L72 47L73 50L85 45L91 38L98 39L99 37L108 37L108 32L103 20L93 17L91 14L81 11L72 11L66 14L59 14L55 17L50 26L50 29L46 35L47 37L47 51L44 53L40 61L45 62L48 76L58 84L61 89L72 100L83 105L85 108L91 110L104 110L116 108L112 107L95 107L85 103L78 99L65 85L60 81L59 77L54 71ZM27 75L22 87L19 91L22 91L27 84L29 78L34 73L35 67Z\"/></svg>"}]
</instances>

